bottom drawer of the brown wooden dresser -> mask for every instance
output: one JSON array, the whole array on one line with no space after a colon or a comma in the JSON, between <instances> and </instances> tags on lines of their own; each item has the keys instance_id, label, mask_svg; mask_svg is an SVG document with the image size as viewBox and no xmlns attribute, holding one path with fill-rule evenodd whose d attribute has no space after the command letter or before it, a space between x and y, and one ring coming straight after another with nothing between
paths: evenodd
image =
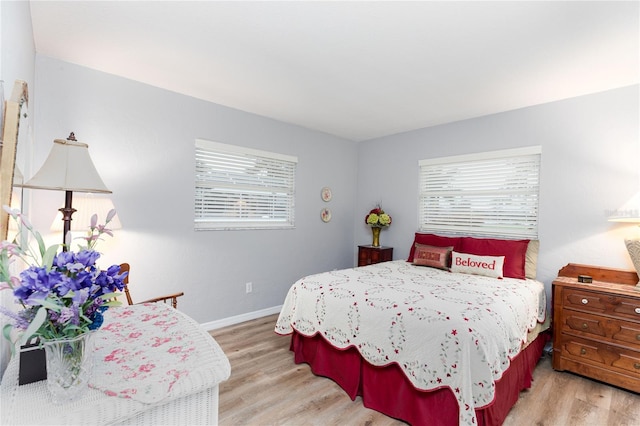
<instances>
[{"instance_id":1,"label":"bottom drawer of the brown wooden dresser","mask_svg":"<svg viewBox=\"0 0 640 426\"><path fill-rule=\"evenodd\" d=\"M640 379L640 352L567 335L560 337L559 345L564 358L614 369Z\"/></svg>"}]
</instances>

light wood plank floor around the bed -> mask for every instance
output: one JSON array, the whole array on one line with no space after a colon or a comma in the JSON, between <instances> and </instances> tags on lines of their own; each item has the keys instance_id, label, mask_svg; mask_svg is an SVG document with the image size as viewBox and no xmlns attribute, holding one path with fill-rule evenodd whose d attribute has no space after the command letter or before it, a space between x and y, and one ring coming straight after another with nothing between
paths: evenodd
<instances>
[{"instance_id":1,"label":"light wood plank floor around the bed","mask_svg":"<svg viewBox=\"0 0 640 426\"><path fill-rule=\"evenodd\" d=\"M231 362L220 385L221 426L403 425L362 406L332 380L294 364L289 337L274 333L277 315L214 330ZM640 396L551 368L541 359L531 389L520 394L505 426L640 425Z\"/></svg>"}]
</instances>

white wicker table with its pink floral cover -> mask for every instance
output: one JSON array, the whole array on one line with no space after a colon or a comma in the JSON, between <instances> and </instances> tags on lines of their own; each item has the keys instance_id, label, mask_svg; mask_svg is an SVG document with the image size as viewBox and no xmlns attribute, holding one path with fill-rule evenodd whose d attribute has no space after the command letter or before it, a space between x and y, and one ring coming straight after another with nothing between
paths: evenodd
<instances>
[{"instance_id":1,"label":"white wicker table with its pink floral cover","mask_svg":"<svg viewBox=\"0 0 640 426\"><path fill-rule=\"evenodd\" d=\"M54 405L46 381L0 384L0 424L217 424L229 360L198 323L165 304L111 308L95 336L94 374L77 401Z\"/></svg>"}]
</instances>

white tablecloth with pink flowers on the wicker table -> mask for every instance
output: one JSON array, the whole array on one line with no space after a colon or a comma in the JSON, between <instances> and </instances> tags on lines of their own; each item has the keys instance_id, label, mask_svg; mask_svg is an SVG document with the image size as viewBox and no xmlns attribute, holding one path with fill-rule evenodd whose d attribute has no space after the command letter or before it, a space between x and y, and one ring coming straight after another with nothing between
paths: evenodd
<instances>
[{"instance_id":1,"label":"white tablecloth with pink flowers on the wicker table","mask_svg":"<svg viewBox=\"0 0 640 426\"><path fill-rule=\"evenodd\" d=\"M96 336L89 386L110 396L156 403L193 375L203 382L228 378L230 368L216 371L201 365L199 336L185 329L185 321L192 320L164 303L107 310Z\"/></svg>"}]
</instances>

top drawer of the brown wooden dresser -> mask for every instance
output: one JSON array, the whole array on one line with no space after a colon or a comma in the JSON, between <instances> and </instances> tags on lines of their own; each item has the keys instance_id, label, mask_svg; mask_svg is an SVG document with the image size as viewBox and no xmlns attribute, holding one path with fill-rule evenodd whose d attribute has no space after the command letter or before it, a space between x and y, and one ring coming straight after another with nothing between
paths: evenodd
<instances>
[{"instance_id":1,"label":"top drawer of the brown wooden dresser","mask_svg":"<svg viewBox=\"0 0 640 426\"><path fill-rule=\"evenodd\" d=\"M575 288L565 288L563 295L564 308L640 321L640 299Z\"/></svg>"}]
</instances>

